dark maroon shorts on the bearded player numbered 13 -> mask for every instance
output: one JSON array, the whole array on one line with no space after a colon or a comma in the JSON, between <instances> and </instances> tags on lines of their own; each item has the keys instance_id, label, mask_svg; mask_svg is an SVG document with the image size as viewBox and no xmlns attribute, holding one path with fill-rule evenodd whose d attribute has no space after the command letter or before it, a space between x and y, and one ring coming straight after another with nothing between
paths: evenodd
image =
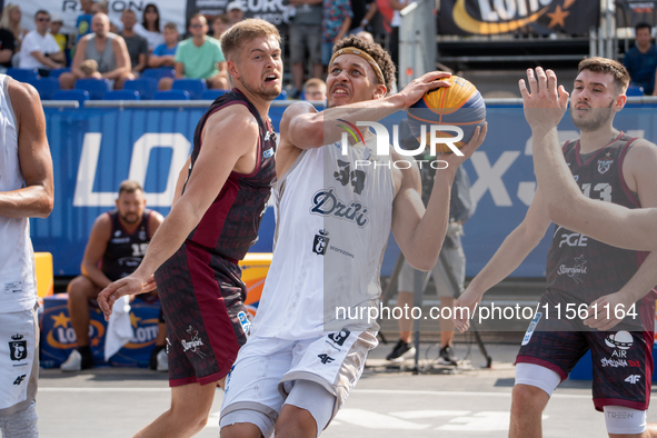
<instances>
[{"instance_id":1,"label":"dark maroon shorts on the bearded player numbered 13","mask_svg":"<svg viewBox=\"0 0 657 438\"><path fill-rule=\"evenodd\" d=\"M555 310L559 302L563 305L561 315L557 319ZM551 369L564 380L590 349L596 409L603 411L605 406L648 409L654 342L653 325L648 318L654 318L654 307L636 307L637 313L646 319L646 330L623 330L624 326L619 325L611 331L599 331L587 328L579 318L566 318L564 305L559 293L547 291L542 295L516 362Z\"/></svg>"}]
</instances>

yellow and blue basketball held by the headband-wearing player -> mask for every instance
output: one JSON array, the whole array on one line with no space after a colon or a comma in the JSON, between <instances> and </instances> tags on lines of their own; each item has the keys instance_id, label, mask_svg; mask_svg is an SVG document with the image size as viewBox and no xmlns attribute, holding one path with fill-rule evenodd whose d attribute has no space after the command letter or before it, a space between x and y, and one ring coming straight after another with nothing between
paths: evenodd
<instances>
[{"instance_id":1,"label":"yellow and blue basketball held by the headband-wearing player","mask_svg":"<svg viewBox=\"0 0 657 438\"><path fill-rule=\"evenodd\" d=\"M421 127L426 127L427 146L431 145L431 126L456 126L464 131L464 138L455 145L460 149L470 140L475 129L486 121L486 104L481 93L470 81L454 74L446 80L451 87L440 87L427 92L408 109L408 125L418 141L421 141ZM458 132L454 130L437 132L440 138L457 136ZM449 153L451 149L440 142L436 152Z\"/></svg>"}]
</instances>

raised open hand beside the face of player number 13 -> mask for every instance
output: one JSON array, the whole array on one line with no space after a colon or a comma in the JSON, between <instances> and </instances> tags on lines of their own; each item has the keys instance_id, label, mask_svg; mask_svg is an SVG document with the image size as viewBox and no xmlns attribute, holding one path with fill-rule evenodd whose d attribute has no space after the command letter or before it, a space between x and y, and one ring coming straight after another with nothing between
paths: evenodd
<instances>
[{"instance_id":1,"label":"raised open hand beside the face of player number 13","mask_svg":"<svg viewBox=\"0 0 657 438\"><path fill-rule=\"evenodd\" d=\"M532 130L556 128L568 108L569 94L564 86L557 87L557 74L553 70L536 68L527 70L527 82L520 79L520 94L522 94L522 108L525 118Z\"/></svg>"}]
</instances>

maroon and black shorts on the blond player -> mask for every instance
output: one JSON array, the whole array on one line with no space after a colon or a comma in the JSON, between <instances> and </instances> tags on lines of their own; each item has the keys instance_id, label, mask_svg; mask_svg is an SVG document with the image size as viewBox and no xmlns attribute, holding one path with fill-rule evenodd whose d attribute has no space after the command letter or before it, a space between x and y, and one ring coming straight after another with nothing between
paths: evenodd
<instances>
[{"instance_id":1,"label":"maroon and black shorts on the blond player","mask_svg":"<svg viewBox=\"0 0 657 438\"><path fill-rule=\"evenodd\" d=\"M169 386L212 384L230 371L251 326L240 277L238 265L187 242L156 271Z\"/></svg>"}]
</instances>

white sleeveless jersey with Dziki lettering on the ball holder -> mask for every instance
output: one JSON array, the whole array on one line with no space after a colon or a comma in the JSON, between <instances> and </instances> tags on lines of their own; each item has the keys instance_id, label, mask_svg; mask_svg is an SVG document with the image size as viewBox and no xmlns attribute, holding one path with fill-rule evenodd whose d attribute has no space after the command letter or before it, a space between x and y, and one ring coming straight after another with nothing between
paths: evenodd
<instances>
[{"instance_id":1,"label":"white sleeveless jersey with Dziki lettering on the ball holder","mask_svg":"<svg viewBox=\"0 0 657 438\"><path fill-rule=\"evenodd\" d=\"M374 150L375 138L347 156L340 143L305 150L276 182L273 258L253 335L293 340L378 328L344 317L378 306L381 293L395 186L389 158Z\"/></svg>"}]
</instances>

